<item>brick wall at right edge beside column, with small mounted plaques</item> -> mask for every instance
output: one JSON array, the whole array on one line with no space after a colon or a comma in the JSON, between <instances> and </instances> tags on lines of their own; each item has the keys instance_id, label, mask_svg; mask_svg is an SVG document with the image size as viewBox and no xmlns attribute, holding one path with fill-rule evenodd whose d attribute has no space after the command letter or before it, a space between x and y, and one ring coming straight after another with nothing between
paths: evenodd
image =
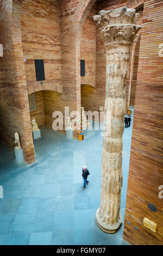
<instances>
[{"instance_id":1,"label":"brick wall at right edge beside column, with small mounted plaques","mask_svg":"<svg viewBox=\"0 0 163 256\"><path fill-rule=\"evenodd\" d=\"M162 2L145 1L124 223L124 239L133 245L162 245L163 241L163 199L159 198L163 184L162 22ZM156 206L156 212L148 209L149 203ZM144 217L157 224L156 233L143 227Z\"/></svg>"}]
</instances>

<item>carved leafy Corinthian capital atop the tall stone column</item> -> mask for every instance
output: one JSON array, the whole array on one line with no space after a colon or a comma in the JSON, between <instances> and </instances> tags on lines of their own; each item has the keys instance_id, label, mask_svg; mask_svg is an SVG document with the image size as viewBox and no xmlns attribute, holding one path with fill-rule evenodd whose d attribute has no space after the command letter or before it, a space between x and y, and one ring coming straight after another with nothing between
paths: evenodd
<instances>
[{"instance_id":1,"label":"carved leafy Corinthian capital atop the tall stone column","mask_svg":"<svg viewBox=\"0 0 163 256\"><path fill-rule=\"evenodd\" d=\"M93 19L97 26L101 27L101 36L105 44L130 45L141 28L136 26L139 14L135 13L135 9L126 7L101 10Z\"/></svg>"}]
</instances>

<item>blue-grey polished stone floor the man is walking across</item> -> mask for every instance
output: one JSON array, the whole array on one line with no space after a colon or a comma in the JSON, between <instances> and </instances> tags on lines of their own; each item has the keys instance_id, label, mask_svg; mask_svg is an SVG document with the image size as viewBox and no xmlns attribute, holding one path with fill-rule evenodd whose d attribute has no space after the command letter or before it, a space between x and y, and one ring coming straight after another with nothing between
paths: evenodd
<instances>
[{"instance_id":1,"label":"blue-grey polished stone floor the man is walking across","mask_svg":"<svg viewBox=\"0 0 163 256\"><path fill-rule=\"evenodd\" d=\"M123 152L130 154L131 127L124 128ZM47 127L34 141L36 162L17 164L0 146L0 245L127 245L123 225L106 234L96 224L101 194L101 131L67 141ZM82 168L90 171L83 191ZM124 222L129 156L123 155L121 214Z\"/></svg>"}]
</instances>

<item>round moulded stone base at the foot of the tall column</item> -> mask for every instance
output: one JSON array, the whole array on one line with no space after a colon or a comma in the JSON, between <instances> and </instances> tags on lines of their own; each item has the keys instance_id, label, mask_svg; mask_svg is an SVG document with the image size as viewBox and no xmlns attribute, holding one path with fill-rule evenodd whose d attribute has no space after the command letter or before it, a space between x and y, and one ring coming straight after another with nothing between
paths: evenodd
<instances>
[{"instance_id":1,"label":"round moulded stone base at the foot of the tall column","mask_svg":"<svg viewBox=\"0 0 163 256\"><path fill-rule=\"evenodd\" d=\"M101 230L103 230L105 233L113 234L113 233L115 233L118 230L118 228L121 227L121 224L122 224L122 216L121 216L121 214L120 214L120 216L118 218L118 221L116 223L114 223L113 225L111 225L111 224L104 223L101 220L101 218L99 218L98 212L99 212L99 208L97 209L97 212L96 212L96 222L97 222L98 227Z\"/></svg>"}]
</instances>

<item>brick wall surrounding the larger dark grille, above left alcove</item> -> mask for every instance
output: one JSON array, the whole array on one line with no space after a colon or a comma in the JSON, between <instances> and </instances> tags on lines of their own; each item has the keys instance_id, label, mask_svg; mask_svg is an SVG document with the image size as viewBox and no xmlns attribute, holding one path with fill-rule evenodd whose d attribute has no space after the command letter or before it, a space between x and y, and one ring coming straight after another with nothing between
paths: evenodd
<instances>
[{"instance_id":1,"label":"brick wall surrounding the larger dark grille, above left alcove","mask_svg":"<svg viewBox=\"0 0 163 256\"><path fill-rule=\"evenodd\" d=\"M61 87L60 9L57 0L23 0L21 35L28 90L41 90L36 81L34 59L43 59L43 89ZM34 90L33 90L34 91Z\"/></svg>"}]
</instances>

